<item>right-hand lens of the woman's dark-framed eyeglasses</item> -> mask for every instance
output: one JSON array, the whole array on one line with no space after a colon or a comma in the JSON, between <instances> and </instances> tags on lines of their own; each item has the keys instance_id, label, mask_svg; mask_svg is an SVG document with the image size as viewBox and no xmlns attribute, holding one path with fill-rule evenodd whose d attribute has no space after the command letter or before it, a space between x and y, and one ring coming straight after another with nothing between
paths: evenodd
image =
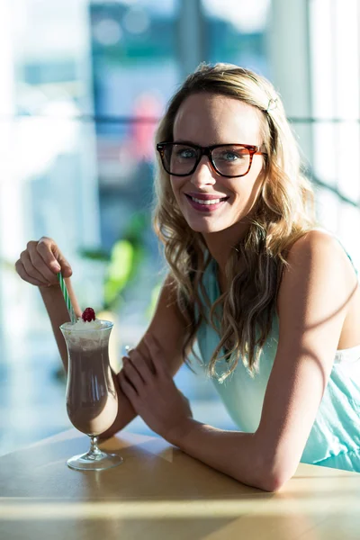
<instances>
[{"instance_id":1,"label":"right-hand lens of the woman's dark-framed eyeglasses","mask_svg":"<svg viewBox=\"0 0 360 540\"><path fill-rule=\"evenodd\" d=\"M250 166L250 152L240 145L215 148L212 159L221 175L246 175Z\"/></svg>"}]
</instances>

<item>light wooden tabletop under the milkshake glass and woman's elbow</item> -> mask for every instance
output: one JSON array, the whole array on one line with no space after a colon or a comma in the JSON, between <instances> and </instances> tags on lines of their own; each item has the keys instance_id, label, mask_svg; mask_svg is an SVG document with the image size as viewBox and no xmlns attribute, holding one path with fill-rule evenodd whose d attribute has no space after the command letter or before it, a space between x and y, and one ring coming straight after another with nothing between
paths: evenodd
<instances>
[{"instance_id":1,"label":"light wooden tabletop under the milkshake glass and woman's elbow","mask_svg":"<svg viewBox=\"0 0 360 540\"><path fill-rule=\"evenodd\" d=\"M70 470L88 439L71 429L0 457L1 540L359 540L360 474L300 464L277 493L249 488L163 439L103 443L124 463Z\"/></svg>"}]
</instances>

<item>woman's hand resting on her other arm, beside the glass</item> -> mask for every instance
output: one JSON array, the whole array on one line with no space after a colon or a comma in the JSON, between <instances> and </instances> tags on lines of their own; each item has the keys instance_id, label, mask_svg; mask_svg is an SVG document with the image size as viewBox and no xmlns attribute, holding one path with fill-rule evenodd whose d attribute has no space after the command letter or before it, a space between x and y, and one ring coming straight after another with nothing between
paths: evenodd
<instances>
[{"instance_id":1,"label":"woman's hand resting on her other arm, beside the glass","mask_svg":"<svg viewBox=\"0 0 360 540\"><path fill-rule=\"evenodd\" d=\"M122 358L117 375L122 392L150 429L168 442L184 437L193 418L189 401L180 392L169 374L166 359L155 338L144 338L152 365L137 349Z\"/></svg>"}]
</instances>

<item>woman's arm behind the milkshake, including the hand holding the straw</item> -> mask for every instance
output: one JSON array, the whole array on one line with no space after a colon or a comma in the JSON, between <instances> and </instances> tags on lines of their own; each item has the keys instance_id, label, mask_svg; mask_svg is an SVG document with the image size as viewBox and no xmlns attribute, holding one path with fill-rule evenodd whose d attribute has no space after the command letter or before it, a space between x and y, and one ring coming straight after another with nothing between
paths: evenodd
<instances>
[{"instance_id":1,"label":"woman's arm behind the milkshake, including the hand holding the straw","mask_svg":"<svg viewBox=\"0 0 360 540\"><path fill-rule=\"evenodd\" d=\"M59 326L70 320L70 318L58 284L58 272L61 271L65 277L67 291L76 315L80 317L82 313L69 279L70 275L72 275L70 265L62 255L56 242L52 238L42 237L39 241L28 242L26 249L15 263L15 269L25 282L39 287L58 344L58 351L65 371L67 371L67 347ZM169 358L167 367L169 373L174 376L182 363L181 350L184 340L184 320L177 309L176 299L171 287L169 287L168 277L159 295L157 308L149 325L148 333L154 335L163 343L162 350ZM144 346L143 339L139 342L138 347L135 347L135 351L138 349L142 352L142 355L139 356L141 363L149 362L148 349ZM112 373L112 379L118 395L118 415L112 427L103 433L103 438L111 437L136 416L130 401L121 391L118 375Z\"/></svg>"}]
</instances>

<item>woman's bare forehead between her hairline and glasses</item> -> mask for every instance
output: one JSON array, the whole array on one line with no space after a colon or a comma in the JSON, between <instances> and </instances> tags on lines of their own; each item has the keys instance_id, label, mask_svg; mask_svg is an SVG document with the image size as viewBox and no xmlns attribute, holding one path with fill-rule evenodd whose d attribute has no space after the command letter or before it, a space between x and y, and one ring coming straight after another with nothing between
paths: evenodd
<instances>
[{"instance_id":1,"label":"woman's bare forehead between her hairline and glasses","mask_svg":"<svg viewBox=\"0 0 360 540\"><path fill-rule=\"evenodd\" d=\"M174 140L201 146L238 142L261 144L261 121L256 107L236 98L192 94L175 116Z\"/></svg>"}]
</instances>

